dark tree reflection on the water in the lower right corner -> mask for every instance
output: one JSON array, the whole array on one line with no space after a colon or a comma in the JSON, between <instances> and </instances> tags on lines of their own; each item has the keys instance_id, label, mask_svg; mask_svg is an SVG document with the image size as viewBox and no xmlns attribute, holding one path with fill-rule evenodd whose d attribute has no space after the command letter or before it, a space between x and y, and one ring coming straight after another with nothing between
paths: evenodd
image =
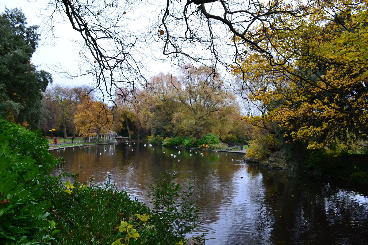
<instances>
[{"instance_id":1,"label":"dark tree reflection on the water in the lower right corner","mask_svg":"<svg viewBox=\"0 0 368 245\"><path fill-rule=\"evenodd\" d=\"M267 212L275 217L272 243L367 244L367 197L319 181L264 173Z\"/></svg>"}]
</instances>

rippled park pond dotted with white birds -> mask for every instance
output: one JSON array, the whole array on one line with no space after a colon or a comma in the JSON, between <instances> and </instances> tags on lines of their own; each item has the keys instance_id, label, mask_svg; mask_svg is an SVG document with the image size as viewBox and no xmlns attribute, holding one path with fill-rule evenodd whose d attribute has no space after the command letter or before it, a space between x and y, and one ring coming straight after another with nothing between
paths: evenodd
<instances>
[{"instance_id":1,"label":"rippled park pond dotted with white birds","mask_svg":"<svg viewBox=\"0 0 368 245\"><path fill-rule=\"evenodd\" d=\"M148 203L149 185L176 165L176 181L192 181L206 245L368 244L368 188L290 177L243 162L243 154L144 142L85 146L54 151L66 164L55 169L93 176Z\"/></svg>"}]
</instances>

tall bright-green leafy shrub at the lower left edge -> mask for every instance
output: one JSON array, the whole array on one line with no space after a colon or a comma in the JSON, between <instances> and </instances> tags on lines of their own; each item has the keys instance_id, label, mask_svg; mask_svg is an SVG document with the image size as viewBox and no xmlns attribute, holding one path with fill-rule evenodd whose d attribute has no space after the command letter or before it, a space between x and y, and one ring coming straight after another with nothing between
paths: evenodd
<instances>
[{"instance_id":1,"label":"tall bright-green leafy shrub at the lower left edge","mask_svg":"<svg viewBox=\"0 0 368 245\"><path fill-rule=\"evenodd\" d=\"M47 233L50 203L42 194L57 159L48 148L41 133L0 119L0 244L52 239Z\"/></svg>"}]
</instances>

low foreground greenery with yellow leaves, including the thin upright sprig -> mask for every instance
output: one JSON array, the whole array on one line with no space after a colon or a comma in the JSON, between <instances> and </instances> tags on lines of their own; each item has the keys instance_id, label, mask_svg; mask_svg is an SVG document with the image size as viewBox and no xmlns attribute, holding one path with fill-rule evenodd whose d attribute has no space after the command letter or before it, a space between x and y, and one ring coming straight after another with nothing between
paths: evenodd
<instances>
[{"instance_id":1,"label":"low foreground greenery with yellow leaves, including the thin upright sprig","mask_svg":"<svg viewBox=\"0 0 368 245\"><path fill-rule=\"evenodd\" d=\"M191 185L180 193L174 178L165 173L152 187L153 210L110 182L98 186L91 181L87 187L76 177L73 183L50 179L45 194L60 230L53 244L183 244L185 234L198 226L199 212L189 201Z\"/></svg>"}]
</instances>

